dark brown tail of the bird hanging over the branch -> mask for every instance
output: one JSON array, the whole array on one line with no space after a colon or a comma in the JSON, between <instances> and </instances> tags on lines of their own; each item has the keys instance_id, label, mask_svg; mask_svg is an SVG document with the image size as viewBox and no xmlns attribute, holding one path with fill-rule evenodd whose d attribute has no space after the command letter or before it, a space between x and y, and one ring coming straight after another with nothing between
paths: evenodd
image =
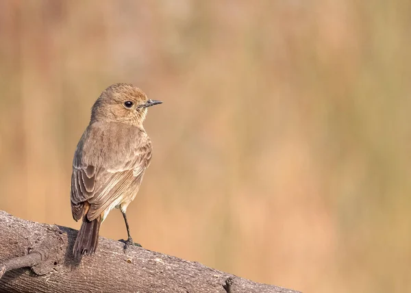
<instances>
[{"instance_id":1,"label":"dark brown tail of the bird hanging over the branch","mask_svg":"<svg viewBox=\"0 0 411 293\"><path fill-rule=\"evenodd\" d=\"M80 227L74 243L73 255L75 258L95 253L97 243L99 242L100 224L101 216L90 221L87 218L87 214L84 214L82 227Z\"/></svg>"}]
</instances>

